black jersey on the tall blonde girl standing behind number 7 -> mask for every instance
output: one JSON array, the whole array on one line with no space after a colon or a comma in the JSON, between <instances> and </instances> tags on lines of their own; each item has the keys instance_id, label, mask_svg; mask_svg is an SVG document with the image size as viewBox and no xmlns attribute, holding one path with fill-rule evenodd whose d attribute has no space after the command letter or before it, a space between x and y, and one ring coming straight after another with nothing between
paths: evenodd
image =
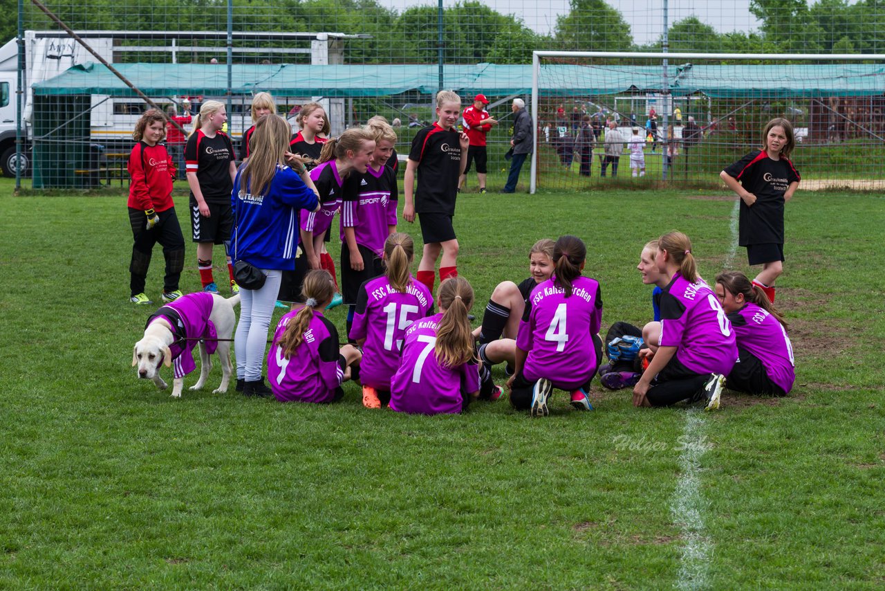
<instances>
[{"instance_id":1,"label":"black jersey on the tall blonde girl standing behind number 7","mask_svg":"<svg viewBox=\"0 0 885 591\"><path fill-rule=\"evenodd\" d=\"M461 144L458 130L439 123L421 128L412 140L409 159L418 162L415 211L419 214L455 214Z\"/></svg>"}]
</instances>

